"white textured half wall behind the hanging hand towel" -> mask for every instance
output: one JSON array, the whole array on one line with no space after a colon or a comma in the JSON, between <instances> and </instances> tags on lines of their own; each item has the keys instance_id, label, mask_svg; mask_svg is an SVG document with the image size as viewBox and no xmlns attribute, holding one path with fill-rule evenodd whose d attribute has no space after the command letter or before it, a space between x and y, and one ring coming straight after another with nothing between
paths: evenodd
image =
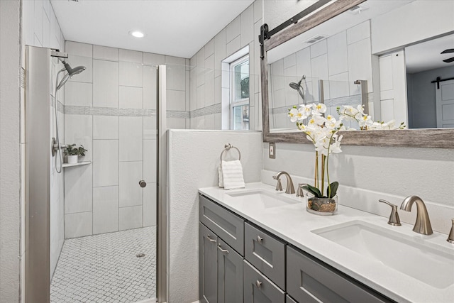
<instances>
[{"instance_id":1,"label":"white textured half wall behind the hanging hand towel","mask_svg":"<svg viewBox=\"0 0 454 303\"><path fill-rule=\"evenodd\" d=\"M262 133L170 130L167 136L167 302L189 303L199 299L197 189L217 186L219 157L225 143L240 150L245 182L260 181Z\"/></svg>"}]
</instances>

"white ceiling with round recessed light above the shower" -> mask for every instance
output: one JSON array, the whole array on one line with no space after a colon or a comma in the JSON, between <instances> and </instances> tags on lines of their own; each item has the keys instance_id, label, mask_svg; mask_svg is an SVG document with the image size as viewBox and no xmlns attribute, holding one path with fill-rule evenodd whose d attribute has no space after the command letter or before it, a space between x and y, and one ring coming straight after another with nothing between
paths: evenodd
<instances>
[{"instance_id":1,"label":"white ceiling with round recessed light above the shower","mask_svg":"<svg viewBox=\"0 0 454 303\"><path fill-rule=\"evenodd\" d=\"M65 40L192 57L254 0L51 0ZM134 38L129 31L142 31Z\"/></svg>"}]
</instances>

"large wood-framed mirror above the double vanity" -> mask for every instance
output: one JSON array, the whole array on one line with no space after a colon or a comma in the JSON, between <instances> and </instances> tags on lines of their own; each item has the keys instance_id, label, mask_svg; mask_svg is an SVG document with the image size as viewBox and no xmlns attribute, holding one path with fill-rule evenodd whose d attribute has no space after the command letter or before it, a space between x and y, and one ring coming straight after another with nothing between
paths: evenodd
<instances>
[{"instance_id":1,"label":"large wood-framed mirror above the double vanity","mask_svg":"<svg viewBox=\"0 0 454 303\"><path fill-rule=\"evenodd\" d=\"M328 96L333 109L341 101L353 102L358 95L358 87L353 83L360 79L367 80L369 114L375 121L385 121L391 116L397 124L404 121L410 128L345 131L342 132L343 144L454 148L454 123L450 125L448 121L444 128L433 125L436 123L433 122L436 106L432 106L435 101L431 101L430 107L410 101L410 78L413 75L405 66L408 64L405 55L410 54L414 45L443 38L454 49L453 13L453 1L330 1L270 38L265 37L261 60L263 141L310 143L304 133L297 131L294 123L289 124L288 109L302 101L317 102L323 93L325 100ZM423 16L433 16L436 24L428 21L421 23ZM339 40L342 43L338 43ZM442 59L454 57L454 53L442 55L443 50L434 49L433 45L436 44L426 49L439 56L436 60L442 62ZM346 57L345 53L348 53ZM443 68L452 67L451 77L454 77L454 62L445 63ZM275 72L277 70L280 72ZM401 73L402 77L399 77L403 82L395 81L400 79L393 74L396 71ZM436 70L432 74L439 75L437 73L440 72ZM441 81L449 79L449 73L450 70L447 75L441 72ZM319 79L325 82L323 87L320 87ZM440 82L426 82L430 89L424 92L436 94L436 85ZM302 92L296 84L301 84ZM454 84L452 89L454 92ZM342 91L348 95L341 96ZM448 94L450 91L445 95ZM454 102L445 108L444 116L454 116Z\"/></svg>"}]
</instances>

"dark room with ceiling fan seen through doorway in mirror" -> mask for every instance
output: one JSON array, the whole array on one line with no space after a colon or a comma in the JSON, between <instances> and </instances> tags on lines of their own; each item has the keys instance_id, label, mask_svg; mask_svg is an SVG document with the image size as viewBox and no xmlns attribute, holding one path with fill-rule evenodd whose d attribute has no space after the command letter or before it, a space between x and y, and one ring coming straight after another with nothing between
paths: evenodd
<instances>
[{"instance_id":1,"label":"dark room with ceiling fan seen through doorway in mirror","mask_svg":"<svg viewBox=\"0 0 454 303\"><path fill-rule=\"evenodd\" d=\"M409 128L454 128L454 35L405 48L405 67Z\"/></svg>"}]
</instances>

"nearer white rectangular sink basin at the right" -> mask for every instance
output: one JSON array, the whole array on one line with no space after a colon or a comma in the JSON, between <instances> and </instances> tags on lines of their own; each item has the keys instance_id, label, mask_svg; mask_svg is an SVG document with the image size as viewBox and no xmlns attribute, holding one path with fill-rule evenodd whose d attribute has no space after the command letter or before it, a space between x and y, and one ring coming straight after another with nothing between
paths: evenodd
<instances>
[{"instance_id":1,"label":"nearer white rectangular sink basin at the right","mask_svg":"<svg viewBox=\"0 0 454 303\"><path fill-rule=\"evenodd\" d=\"M418 236L394 233L364 221L350 221L312 232L433 287L443 289L454 283L452 252L436 248Z\"/></svg>"}]
</instances>

